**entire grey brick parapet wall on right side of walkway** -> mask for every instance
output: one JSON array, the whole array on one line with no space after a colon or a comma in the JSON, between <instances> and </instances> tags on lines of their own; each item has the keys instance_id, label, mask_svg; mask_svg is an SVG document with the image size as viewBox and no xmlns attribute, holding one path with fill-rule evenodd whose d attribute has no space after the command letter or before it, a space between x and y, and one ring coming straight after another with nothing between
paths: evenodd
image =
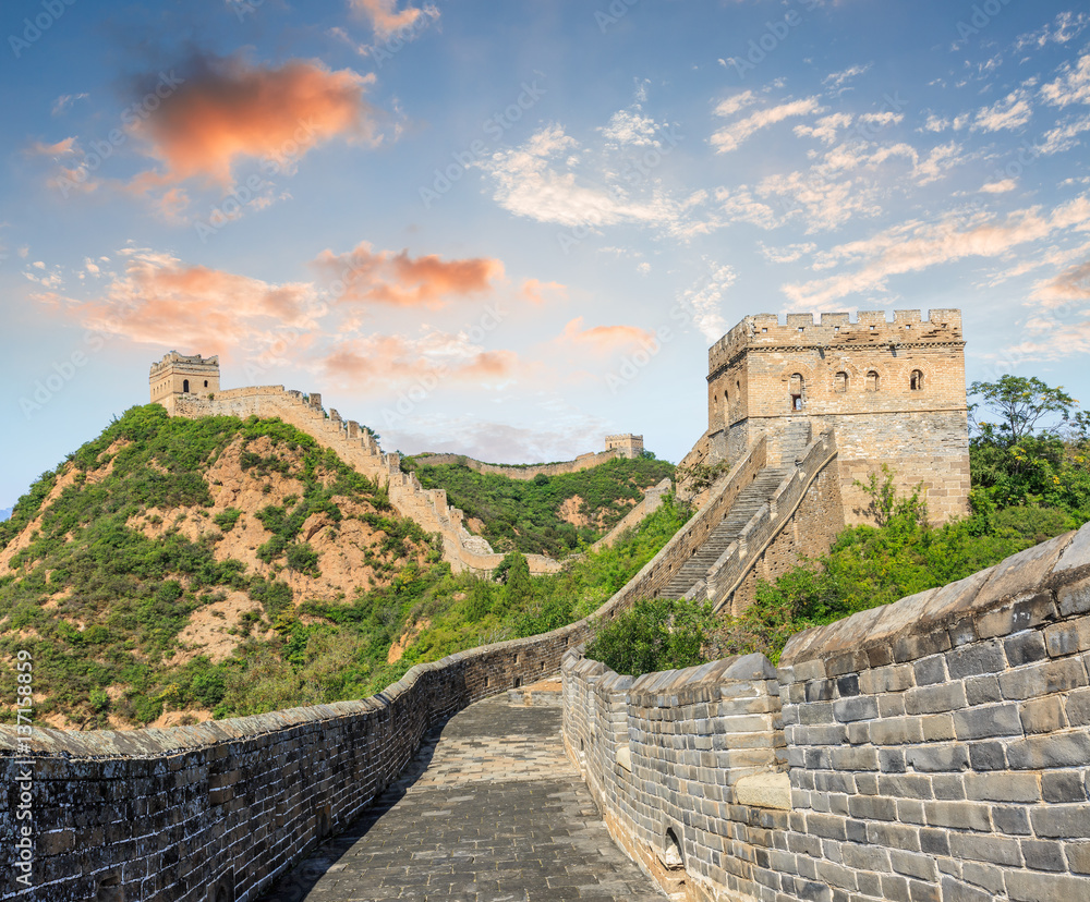
<instances>
[{"instance_id":1,"label":"entire grey brick parapet wall on right side of walkway","mask_svg":"<svg viewBox=\"0 0 1090 902\"><path fill-rule=\"evenodd\" d=\"M1088 663L1090 525L800 633L778 669L632 681L573 649L565 742L675 898L1076 902Z\"/></svg>"}]
</instances>

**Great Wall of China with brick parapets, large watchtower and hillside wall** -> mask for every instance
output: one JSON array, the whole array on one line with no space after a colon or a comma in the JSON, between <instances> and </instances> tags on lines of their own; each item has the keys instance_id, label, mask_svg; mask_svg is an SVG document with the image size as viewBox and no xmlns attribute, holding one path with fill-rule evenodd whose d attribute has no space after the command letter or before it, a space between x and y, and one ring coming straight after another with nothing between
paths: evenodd
<instances>
[{"instance_id":1,"label":"Great Wall of China with brick parapets, large watchtower and hillside wall","mask_svg":"<svg viewBox=\"0 0 1090 902\"><path fill-rule=\"evenodd\" d=\"M595 617L655 595L738 609L756 576L865 519L858 480L881 462L903 489L922 482L937 519L964 512L962 348L956 310L747 317L711 349L708 428L687 459L729 473ZM445 522L434 531L467 566L480 557L445 498L399 480L397 455L319 400L209 393L166 403L280 416ZM0 898L249 902L374 801L431 726L557 671L570 757L673 898L1090 898L1090 526L796 635L778 667L748 656L633 681L582 659L592 620L416 666L361 702L171 730L35 728L31 747L0 728L10 770L29 760L40 787L49 893ZM0 805L10 821L12 797Z\"/></svg>"}]
</instances>

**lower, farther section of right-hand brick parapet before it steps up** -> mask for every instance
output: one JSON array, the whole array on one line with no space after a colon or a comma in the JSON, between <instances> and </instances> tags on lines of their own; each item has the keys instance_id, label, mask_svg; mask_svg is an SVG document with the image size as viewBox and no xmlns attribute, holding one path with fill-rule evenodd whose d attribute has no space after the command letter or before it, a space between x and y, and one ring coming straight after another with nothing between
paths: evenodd
<instances>
[{"instance_id":1,"label":"lower, farther section of right-hand brick parapet before it steps up","mask_svg":"<svg viewBox=\"0 0 1090 902\"><path fill-rule=\"evenodd\" d=\"M740 802L786 768L775 668L749 655L633 680L573 650L562 678L565 745L614 839L673 898L751 898L788 828Z\"/></svg>"}]
</instances>

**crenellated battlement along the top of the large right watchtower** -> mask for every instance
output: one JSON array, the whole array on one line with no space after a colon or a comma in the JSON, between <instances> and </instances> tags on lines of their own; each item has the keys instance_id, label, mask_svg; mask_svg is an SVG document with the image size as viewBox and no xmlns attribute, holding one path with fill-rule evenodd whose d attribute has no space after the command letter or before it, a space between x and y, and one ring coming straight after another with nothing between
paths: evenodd
<instances>
[{"instance_id":1,"label":"crenellated battlement along the top of the large right watchtower","mask_svg":"<svg viewBox=\"0 0 1090 902\"><path fill-rule=\"evenodd\" d=\"M855 321L847 313L787 314L780 322L775 314L747 316L707 352L708 378L747 350L773 348L858 348L867 344L960 344L961 312L936 308L924 319L920 310L894 310L891 322L885 310L859 310Z\"/></svg>"}]
</instances>

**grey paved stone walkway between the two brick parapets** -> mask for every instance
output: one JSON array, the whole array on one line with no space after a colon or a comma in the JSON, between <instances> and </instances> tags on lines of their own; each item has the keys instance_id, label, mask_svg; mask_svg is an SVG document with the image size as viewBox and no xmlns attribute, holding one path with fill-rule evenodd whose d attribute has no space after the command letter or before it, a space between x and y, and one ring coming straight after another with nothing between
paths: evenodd
<instances>
[{"instance_id":1,"label":"grey paved stone walkway between the two brick parapets","mask_svg":"<svg viewBox=\"0 0 1090 902\"><path fill-rule=\"evenodd\" d=\"M559 707L506 696L433 731L401 779L266 902L662 902L614 844L560 741Z\"/></svg>"}]
</instances>

